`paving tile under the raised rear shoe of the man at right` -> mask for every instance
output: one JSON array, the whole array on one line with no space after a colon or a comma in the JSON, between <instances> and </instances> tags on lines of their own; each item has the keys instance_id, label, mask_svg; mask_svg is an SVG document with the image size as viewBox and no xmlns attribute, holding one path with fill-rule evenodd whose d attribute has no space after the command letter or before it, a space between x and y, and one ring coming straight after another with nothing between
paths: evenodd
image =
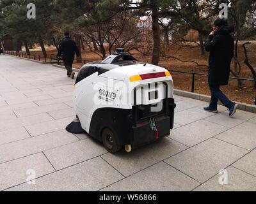
<instances>
[{"instance_id":1,"label":"paving tile under the raised rear shoe of the man at right","mask_svg":"<svg viewBox=\"0 0 256 204\"><path fill-rule=\"evenodd\" d=\"M228 128L233 128L246 120L252 119L255 117L255 113L244 112L243 110L237 110L236 114L230 118L228 117L228 112L221 112L212 117L208 117L205 120L209 122L214 122L220 124L221 126L226 126Z\"/></svg>"}]
</instances>

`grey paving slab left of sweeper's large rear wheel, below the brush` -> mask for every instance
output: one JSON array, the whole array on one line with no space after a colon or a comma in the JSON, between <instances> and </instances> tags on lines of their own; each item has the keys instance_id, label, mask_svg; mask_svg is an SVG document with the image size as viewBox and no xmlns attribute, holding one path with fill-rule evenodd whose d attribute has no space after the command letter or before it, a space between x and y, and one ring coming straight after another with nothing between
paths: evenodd
<instances>
[{"instance_id":1,"label":"grey paving slab left of sweeper's large rear wheel, below the brush","mask_svg":"<svg viewBox=\"0 0 256 204\"><path fill-rule=\"evenodd\" d=\"M93 157L106 154L107 150L102 144L93 140L82 140L75 143L56 147L44 152L56 170L61 170L68 166L81 163Z\"/></svg>"}]
</instances>

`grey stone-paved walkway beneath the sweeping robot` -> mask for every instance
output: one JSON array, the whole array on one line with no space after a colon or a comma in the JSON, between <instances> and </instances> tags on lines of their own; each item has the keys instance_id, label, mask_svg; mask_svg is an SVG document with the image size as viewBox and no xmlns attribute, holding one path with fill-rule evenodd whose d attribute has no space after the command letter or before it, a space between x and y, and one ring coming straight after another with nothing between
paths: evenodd
<instances>
[{"instance_id":1,"label":"grey stone-paved walkway beneath the sweeping robot","mask_svg":"<svg viewBox=\"0 0 256 204\"><path fill-rule=\"evenodd\" d=\"M256 190L253 113L230 119L223 107L207 113L204 102L175 96L170 137L113 155L65 131L75 113L74 81L64 69L6 55L0 69L0 190ZM35 185L28 184L33 176Z\"/></svg>"}]
</instances>

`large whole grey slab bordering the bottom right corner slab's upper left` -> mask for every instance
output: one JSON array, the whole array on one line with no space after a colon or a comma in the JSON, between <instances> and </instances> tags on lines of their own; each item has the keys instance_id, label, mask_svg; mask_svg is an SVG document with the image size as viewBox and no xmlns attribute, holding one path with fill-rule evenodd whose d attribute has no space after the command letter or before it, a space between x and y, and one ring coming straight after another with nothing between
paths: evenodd
<instances>
[{"instance_id":1,"label":"large whole grey slab bordering the bottom right corner slab's upper left","mask_svg":"<svg viewBox=\"0 0 256 204\"><path fill-rule=\"evenodd\" d=\"M205 182L248 151L211 138L169 159L166 163L199 182Z\"/></svg>"}]
</instances>

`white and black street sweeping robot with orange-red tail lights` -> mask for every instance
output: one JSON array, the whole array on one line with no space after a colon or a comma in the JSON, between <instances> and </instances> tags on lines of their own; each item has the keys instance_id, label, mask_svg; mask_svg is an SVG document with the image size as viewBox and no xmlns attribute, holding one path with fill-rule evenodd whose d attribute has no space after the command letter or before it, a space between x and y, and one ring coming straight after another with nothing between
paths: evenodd
<instances>
[{"instance_id":1,"label":"white and black street sweeping robot with orange-red tail lights","mask_svg":"<svg viewBox=\"0 0 256 204\"><path fill-rule=\"evenodd\" d=\"M86 131L111 153L122 147L131 152L173 129L176 105L170 72L138 62L124 49L85 64L74 89L77 119L67 131Z\"/></svg>"}]
</instances>

